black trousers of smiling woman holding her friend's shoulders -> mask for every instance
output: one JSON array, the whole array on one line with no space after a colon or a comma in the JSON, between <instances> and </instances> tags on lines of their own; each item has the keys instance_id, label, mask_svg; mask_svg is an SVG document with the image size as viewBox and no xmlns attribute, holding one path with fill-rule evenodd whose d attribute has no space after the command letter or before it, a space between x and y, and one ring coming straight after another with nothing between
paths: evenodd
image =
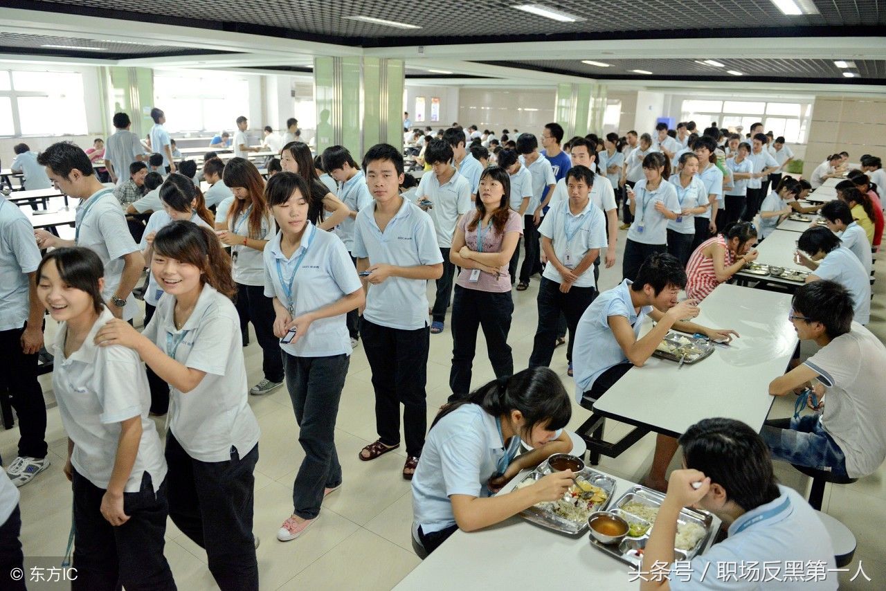
<instances>
[{"instance_id":1,"label":"black trousers of smiling woman holding her friend's shoulders","mask_svg":"<svg viewBox=\"0 0 886 591\"><path fill-rule=\"evenodd\" d=\"M259 446L225 462L200 462L167 432L169 517L200 548L221 591L258 591L253 538L253 470Z\"/></svg>"}]
</instances>

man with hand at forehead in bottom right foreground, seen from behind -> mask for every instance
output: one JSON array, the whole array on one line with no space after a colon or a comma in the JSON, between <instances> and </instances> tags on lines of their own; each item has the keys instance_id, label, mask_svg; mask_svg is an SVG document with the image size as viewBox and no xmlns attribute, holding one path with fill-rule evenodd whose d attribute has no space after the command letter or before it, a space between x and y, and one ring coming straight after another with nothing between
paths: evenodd
<instances>
[{"instance_id":1,"label":"man with hand at forehead in bottom right foreground, seen from behind","mask_svg":"<svg viewBox=\"0 0 886 591\"><path fill-rule=\"evenodd\" d=\"M741 421L706 418L683 433L680 445L683 468L671 473L649 533L640 567L641 591L837 588L828 531L800 494L778 484L766 442L758 433ZM678 519L690 506L719 517L728 537L688 564L676 564ZM822 575L789 581L789 563L821 564ZM763 582L762 570L757 579L721 576L730 564L773 564L779 572L768 582Z\"/></svg>"}]
</instances>

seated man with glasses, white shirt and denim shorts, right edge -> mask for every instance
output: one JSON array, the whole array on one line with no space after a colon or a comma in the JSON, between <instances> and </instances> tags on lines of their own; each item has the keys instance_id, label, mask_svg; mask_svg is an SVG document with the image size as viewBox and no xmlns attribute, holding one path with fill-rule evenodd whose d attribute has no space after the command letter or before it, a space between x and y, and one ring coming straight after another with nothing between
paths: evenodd
<instances>
[{"instance_id":1,"label":"seated man with glasses, white shirt and denim shorts, right edge","mask_svg":"<svg viewBox=\"0 0 886 591\"><path fill-rule=\"evenodd\" d=\"M815 412L799 416L797 408L792 419L766 421L760 434L773 459L836 476L867 476L886 458L886 347L852 321L852 298L841 284L804 284L791 306L788 318L797 336L821 349L775 378L769 393L802 390Z\"/></svg>"}]
</instances>

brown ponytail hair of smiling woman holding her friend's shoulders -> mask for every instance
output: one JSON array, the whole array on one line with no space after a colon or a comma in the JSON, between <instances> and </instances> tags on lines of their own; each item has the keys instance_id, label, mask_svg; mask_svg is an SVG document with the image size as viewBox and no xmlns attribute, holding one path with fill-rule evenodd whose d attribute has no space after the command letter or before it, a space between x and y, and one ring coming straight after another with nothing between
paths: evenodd
<instances>
[{"instance_id":1,"label":"brown ponytail hair of smiling woman holding her friend's shoulders","mask_svg":"<svg viewBox=\"0 0 886 591\"><path fill-rule=\"evenodd\" d=\"M216 292L233 298L237 284L230 270L230 256L211 229L187 220L176 220L159 229L154 237L154 254L200 269L200 281Z\"/></svg>"}]
</instances>

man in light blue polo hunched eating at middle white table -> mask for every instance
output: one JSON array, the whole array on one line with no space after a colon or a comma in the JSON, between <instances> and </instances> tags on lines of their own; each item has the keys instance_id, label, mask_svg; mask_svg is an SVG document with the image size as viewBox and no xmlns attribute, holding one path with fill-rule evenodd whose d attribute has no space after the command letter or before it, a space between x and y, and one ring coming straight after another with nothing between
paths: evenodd
<instances>
[{"instance_id":1,"label":"man in light blue polo hunched eating at middle white table","mask_svg":"<svg viewBox=\"0 0 886 591\"><path fill-rule=\"evenodd\" d=\"M695 299L677 301L686 281L686 271L676 257L654 253L643 262L633 283L623 280L587 307L572 349L576 394L582 407L591 408L628 369L643 367L672 329L717 341L728 342L733 335L738 336L734 330L709 329L687 320L695 318L699 309ZM647 315L656 324L640 338L642 320ZM599 435L602 426L595 432L595 437ZM658 435L646 486L664 491L664 474L676 450L676 439Z\"/></svg>"}]
</instances>

